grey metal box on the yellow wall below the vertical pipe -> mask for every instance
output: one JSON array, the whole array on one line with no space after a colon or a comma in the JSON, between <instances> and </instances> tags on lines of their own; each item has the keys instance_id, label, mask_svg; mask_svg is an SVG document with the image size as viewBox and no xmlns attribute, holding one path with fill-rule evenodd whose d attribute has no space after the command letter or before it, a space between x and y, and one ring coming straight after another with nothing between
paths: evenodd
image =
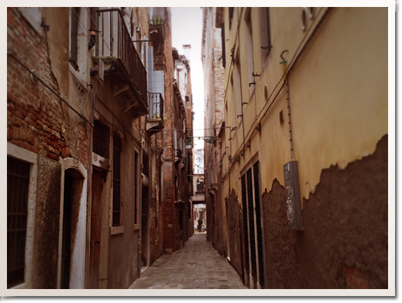
<instances>
[{"instance_id":1,"label":"grey metal box on the yellow wall below the vertical pipe","mask_svg":"<svg viewBox=\"0 0 402 303\"><path fill-rule=\"evenodd\" d=\"M284 176L288 228L302 231L302 205L300 203L299 170L297 169L297 161L291 161L284 165Z\"/></svg>"}]
</instances>

